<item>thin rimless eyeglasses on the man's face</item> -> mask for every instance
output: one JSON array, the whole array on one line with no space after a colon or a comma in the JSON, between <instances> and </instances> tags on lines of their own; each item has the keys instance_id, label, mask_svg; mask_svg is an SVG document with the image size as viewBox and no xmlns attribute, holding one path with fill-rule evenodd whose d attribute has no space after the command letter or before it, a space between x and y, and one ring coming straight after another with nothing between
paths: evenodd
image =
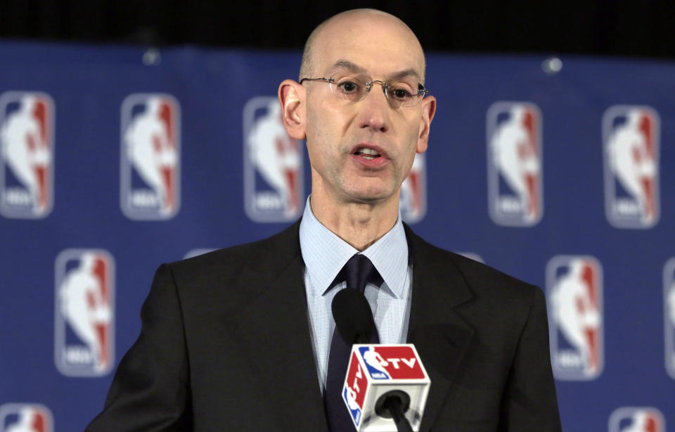
<instances>
[{"instance_id":1,"label":"thin rimless eyeglasses on the man's face","mask_svg":"<svg viewBox=\"0 0 675 432\"><path fill-rule=\"evenodd\" d=\"M374 84L380 84L382 91L393 109L407 106L416 106L429 91L422 84L417 84L417 90L413 90L413 84L406 82L397 82L396 84L387 84L380 80L368 81L365 77L338 76L333 75L330 78L302 78L300 84L305 81L327 82L330 86L330 92L333 96L342 101L356 103L363 100L366 94L370 93Z\"/></svg>"}]
</instances>

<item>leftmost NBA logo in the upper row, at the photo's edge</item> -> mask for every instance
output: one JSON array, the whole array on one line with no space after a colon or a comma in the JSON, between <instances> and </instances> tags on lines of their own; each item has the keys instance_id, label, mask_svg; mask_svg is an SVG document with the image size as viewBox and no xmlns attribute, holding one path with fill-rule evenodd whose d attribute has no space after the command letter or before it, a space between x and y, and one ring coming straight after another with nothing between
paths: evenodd
<instances>
[{"instance_id":1,"label":"leftmost NBA logo in the upper row, at the photo's edge","mask_svg":"<svg viewBox=\"0 0 675 432\"><path fill-rule=\"evenodd\" d=\"M54 104L48 94L0 96L0 213L40 219L53 207Z\"/></svg>"}]
</instances>

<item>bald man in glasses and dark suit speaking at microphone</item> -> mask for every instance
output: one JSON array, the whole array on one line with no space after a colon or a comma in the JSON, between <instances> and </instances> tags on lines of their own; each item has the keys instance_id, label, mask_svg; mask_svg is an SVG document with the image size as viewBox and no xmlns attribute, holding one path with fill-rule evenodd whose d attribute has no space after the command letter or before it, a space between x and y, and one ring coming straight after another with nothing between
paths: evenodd
<instances>
[{"instance_id":1,"label":"bald man in glasses and dark suit speaking at microphone","mask_svg":"<svg viewBox=\"0 0 675 432\"><path fill-rule=\"evenodd\" d=\"M430 374L421 430L560 431L541 290L401 223L401 182L436 108L424 72L419 42L392 15L347 11L317 27L300 82L278 92L288 134L307 139L302 220L162 265L89 431L344 430L322 392L330 300L356 253L381 277L364 291L380 342L415 343Z\"/></svg>"}]
</instances>

